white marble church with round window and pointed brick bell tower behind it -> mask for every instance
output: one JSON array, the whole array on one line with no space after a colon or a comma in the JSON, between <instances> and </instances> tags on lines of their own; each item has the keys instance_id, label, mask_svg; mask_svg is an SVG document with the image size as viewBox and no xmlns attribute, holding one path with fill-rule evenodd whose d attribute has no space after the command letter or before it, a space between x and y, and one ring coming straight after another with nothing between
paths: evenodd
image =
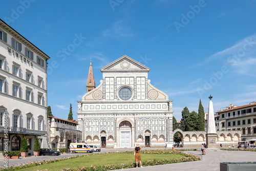
<instances>
[{"instance_id":1,"label":"white marble church with round window and pointed brick bell tower behind it","mask_svg":"<svg viewBox=\"0 0 256 171\"><path fill-rule=\"evenodd\" d=\"M102 148L173 145L173 100L148 79L149 68L124 55L103 67L95 88L90 65L87 93L78 102L82 141Z\"/></svg>"}]
</instances>

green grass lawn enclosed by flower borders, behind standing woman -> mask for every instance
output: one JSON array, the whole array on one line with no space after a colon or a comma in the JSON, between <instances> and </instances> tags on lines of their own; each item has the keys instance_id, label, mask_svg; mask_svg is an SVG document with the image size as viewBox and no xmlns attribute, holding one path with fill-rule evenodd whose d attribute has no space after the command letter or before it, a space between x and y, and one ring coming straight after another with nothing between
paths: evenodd
<instances>
[{"instance_id":1,"label":"green grass lawn enclosed by flower borders, behind standing woman","mask_svg":"<svg viewBox=\"0 0 256 171\"><path fill-rule=\"evenodd\" d=\"M153 159L176 159L182 158L182 155L173 155L173 154L141 154L141 160L153 160ZM34 167L23 168L19 170L41 170L41 169L54 169L57 168L69 168L69 167L83 167L83 166L91 166L91 165L102 165L102 164L114 164L114 163L126 163L126 162L134 162L135 156L134 154L125 154L125 153L110 153L110 154L100 154L100 155L90 155L84 157L78 157L63 161L58 161L56 163L43 164ZM52 170L51 169L51 170ZM58 170L59 170L58 169Z\"/></svg>"}]
</instances>

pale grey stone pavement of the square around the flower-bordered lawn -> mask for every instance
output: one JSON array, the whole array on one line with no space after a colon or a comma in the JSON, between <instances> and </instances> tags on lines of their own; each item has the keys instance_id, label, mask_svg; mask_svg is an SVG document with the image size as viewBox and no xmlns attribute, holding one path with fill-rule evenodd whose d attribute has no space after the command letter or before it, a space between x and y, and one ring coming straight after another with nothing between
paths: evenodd
<instances>
[{"instance_id":1,"label":"pale grey stone pavement of the square around the flower-bordered lawn","mask_svg":"<svg viewBox=\"0 0 256 171\"><path fill-rule=\"evenodd\" d=\"M145 148L142 148L145 149ZM146 149L163 149L163 148L146 148ZM175 148L179 149L179 148ZM188 148L186 148L188 149ZM193 148L194 149L194 148ZM198 151L189 151L190 154L201 155L200 148L197 147ZM133 148L115 148L115 149L102 149L103 153L106 152L125 152L133 151ZM95 152L98 153L98 152ZM84 154L84 153L83 153ZM62 157L70 157L74 155L82 154L61 154L60 156L29 156L27 158L20 159L9 159L9 165L20 165L27 164L30 161L43 161L43 160L52 160ZM143 159L142 159L143 160ZM143 168L127 168L120 170L220 170L220 162L243 162L243 161L256 161L256 152L242 152L242 151L207 151L206 155L203 155L203 160L193 161L193 162L184 162L184 163L174 163L174 164L165 164L157 166L147 166ZM3 157L0 158L0 166L4 165ZM65 166L67 167L67 166Z\"/></svg>"}]
</instances>

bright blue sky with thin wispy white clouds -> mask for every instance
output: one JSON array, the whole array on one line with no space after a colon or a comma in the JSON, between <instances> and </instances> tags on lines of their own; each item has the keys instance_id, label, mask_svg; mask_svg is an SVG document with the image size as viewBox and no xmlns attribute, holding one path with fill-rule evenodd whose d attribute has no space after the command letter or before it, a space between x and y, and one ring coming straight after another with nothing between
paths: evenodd
<instances>
[{"instance_id":1,"label":"bright blue sky with thin wispy white clouds","mask_svg":"<svg viewBox=\"0 0 256 171\"><path fill-rule=\"evenodd\" d=\"M86 93L90 60L100 69L124 54L150 68L148 79L185 106L215 112L256 101L256 1L1 1L0 18L51 57L48 105L67 119ZM125 49L125 50L124 50Z\"/></svg>"}]
</instances>

